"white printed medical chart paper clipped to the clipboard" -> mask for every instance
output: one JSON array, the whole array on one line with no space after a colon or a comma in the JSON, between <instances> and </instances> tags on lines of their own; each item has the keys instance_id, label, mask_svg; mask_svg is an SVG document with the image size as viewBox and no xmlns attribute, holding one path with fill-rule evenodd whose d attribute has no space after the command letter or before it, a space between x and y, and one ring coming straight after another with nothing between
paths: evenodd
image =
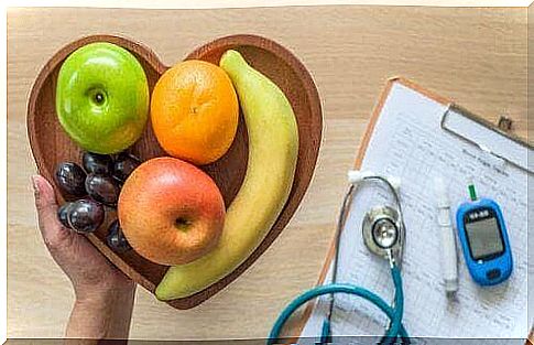
<instances>
[{"instance_id":1,"label":"white printed medical chart paper clipped to the clipboard","mask_svg":"<svg viewBox=\"0 0 534 345\"><path fill-rule=\"evenodd\" d=\"M530 328L527 173L444 131L440 121L446 110L447 106L394 83L362 163L362 170L401 179L401 202L406 224L402 263L404 326L412 337L422 337L416 344L425 344L429 337L524 339ZM469 128L465 130L469 132ZM494 136L498 134L488 130L484 138L491 141L497 138ZM517 151L517 143L508 142ZM500 149L506 151L506 148ZM527 149L522 147L519 150L523 150L520 159L526 160ZM454 225L457 206L468 200L468 184L471 182L479 197L488 196L500 204L514 260L512 277L506 282L492 288L477 285L468 272L457 240L459 290L456 300L446 298L436 219L435 179L438 176L448 186ZM380 184L368 184L357 194L341 237L338 282L364 287L392 301L394 288L389 265L368 251L361 235L364 213L383 204L393 205L393 202ZM323 297L317 300L303 330L303 337L320 334L328 299ZM388 322L369 302L336 295L333 335L382 335ZM494 339L490 343L497 344Z\"/></svg>"}]
</instances>

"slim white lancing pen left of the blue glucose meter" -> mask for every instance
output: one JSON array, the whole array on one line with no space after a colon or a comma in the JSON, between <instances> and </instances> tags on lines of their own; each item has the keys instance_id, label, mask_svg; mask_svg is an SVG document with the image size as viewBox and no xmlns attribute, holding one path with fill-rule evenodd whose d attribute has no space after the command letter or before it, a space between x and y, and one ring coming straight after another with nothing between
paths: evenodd
<instances>
[{"instance_id":1,"label":"slim white lancing pen left of the blue glucose meter","mask_svg":"<svg viewBox=\"0 0 534 345\"><path fill-rule=\"evenodd\" d=\"M447 187L443 179L436 179L437 222L442 237L442 273L445 292L453 298L458 291L458 256L456 237L450 220L450 203Z\"/></svg>"}]
</instances>

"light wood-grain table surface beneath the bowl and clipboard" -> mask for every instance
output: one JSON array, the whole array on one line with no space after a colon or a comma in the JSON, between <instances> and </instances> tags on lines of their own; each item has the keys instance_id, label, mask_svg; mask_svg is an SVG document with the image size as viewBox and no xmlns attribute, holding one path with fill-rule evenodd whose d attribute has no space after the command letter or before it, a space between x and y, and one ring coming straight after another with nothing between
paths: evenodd
<instances>
[{"instance_id":1,"label":"light wood-grain table surface beneath the bowl and clipboard","mask_svg":"<svg viewBox=\"0 0 534 345\"><path fill-rule=\"evenodd\" d=\"M220 10L8 11L8 336L59 337L73 303L67 278L35 226L25 107L40 68L95 33L133 37L165 64L215 37L253 33L292 50L310 71L325 130L314 180L287 228L241 278L177 311L138 289L132 338L249 338L318 277L345 174L386 79L402 75L526 137L526 9L292 7Z\"/></svg>"}]
</instances>

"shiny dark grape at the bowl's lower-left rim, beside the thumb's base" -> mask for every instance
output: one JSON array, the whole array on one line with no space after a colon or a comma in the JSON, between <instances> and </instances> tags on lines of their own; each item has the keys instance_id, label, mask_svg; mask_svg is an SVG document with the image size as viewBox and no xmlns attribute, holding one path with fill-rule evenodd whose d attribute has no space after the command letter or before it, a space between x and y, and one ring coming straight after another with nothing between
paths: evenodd
<instances>
[{"instance_id":1,"label":"shiny dark grape at the bowl's lower-left rim, beside the thumb's base","mask_svg":"<svg viewBox=\"0 0 534 345\"><path fill-rule=\"evenodd\" d=\"M73 230L92 233L105 218L103 206L91 200L79 200L73 203L67 213L67 223Z\"/></svg>"}]
</instances>

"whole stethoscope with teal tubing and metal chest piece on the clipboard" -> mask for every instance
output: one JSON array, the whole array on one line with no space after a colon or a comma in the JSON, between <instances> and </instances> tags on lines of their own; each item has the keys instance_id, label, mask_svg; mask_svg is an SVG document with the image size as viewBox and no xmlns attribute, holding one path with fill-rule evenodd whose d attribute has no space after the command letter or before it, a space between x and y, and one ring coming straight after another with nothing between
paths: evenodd
<instances>
[{"instance_id":1,"label":"whole stethoscope with teal tubing and metal chest piece on the clipboard","mask_svg":"<svg viewBox=\"0 0 534 345\"><path fill-rule=\"evenodd\" d=\"M349 190L345 194L338 218L335 237L335 257L333 262L331 282L313 288L294 299L279 315L269 335L268 345L275 344L282 327L290 316L304 303L325 294L330 295L328 313L323 322L319 344L331 343L331 316L334 312L335 294L346 293L360 297L379 308L390 319L390 324L380 344L392 344L399 338L403 344L410 344L408 334L402 324L404 311L404 294L401 278L401 262L405 241L404 216L399 196L400 183L395 179L373 174L371 172L349 171ZM394 200L394 207L372 207L363 217L361 230L366 247L373 254L386 259L390 263L391 277L395 288L395 297L390 305L381 297L362 287L338 283L339 245L341 231L348 216L348 209L356 194L364 183L383 183Z\"/></svg>"}]
</instances>

